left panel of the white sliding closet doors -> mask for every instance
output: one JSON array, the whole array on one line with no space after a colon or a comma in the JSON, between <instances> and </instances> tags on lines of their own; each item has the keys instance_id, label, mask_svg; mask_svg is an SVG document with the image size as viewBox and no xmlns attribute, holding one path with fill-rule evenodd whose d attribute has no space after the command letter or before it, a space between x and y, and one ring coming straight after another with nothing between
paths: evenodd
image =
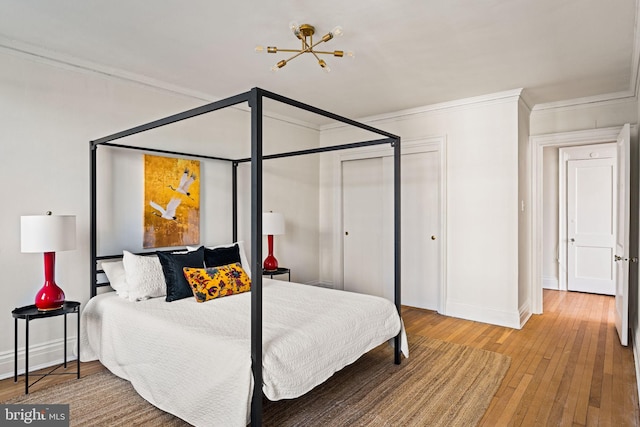
<instances>
[{"instance_id":1,"label":"left panel of the white sliding closet doors","mask_svg":"<svg viewBox=\"0 0 640 427\"><path fill-rule=\"evenodd\" d=\"M382 158L342 162L344 290L384 296Z\"/></svg>"}]
</instances>

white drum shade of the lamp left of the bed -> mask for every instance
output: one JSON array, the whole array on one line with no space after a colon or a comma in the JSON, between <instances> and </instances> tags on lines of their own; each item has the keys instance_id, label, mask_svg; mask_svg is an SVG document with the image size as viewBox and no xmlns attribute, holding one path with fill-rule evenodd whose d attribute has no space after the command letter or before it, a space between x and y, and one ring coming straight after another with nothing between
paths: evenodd
<instances>
[{"instance_id":1,"label":"white drum shade of the lamp left of the bed","mask_svg":"<svg viewBox=\"0 0 640 427\"><path fill-rule=\"evenodd\" d=\"M22 252L59 252L76 248L74 215L20 217Z\"/></svg>"}]
</instances>

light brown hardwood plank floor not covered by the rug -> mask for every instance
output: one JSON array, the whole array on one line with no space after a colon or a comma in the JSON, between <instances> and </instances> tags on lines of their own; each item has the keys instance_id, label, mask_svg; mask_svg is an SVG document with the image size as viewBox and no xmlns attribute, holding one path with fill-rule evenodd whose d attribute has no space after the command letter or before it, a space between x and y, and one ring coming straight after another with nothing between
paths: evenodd
<instances>
[{"instance_id":1,"label":"light brown hardwood plank floor not covered by the rug","mask_svg":"<svg viewBox=\"0 0 640 427\"><path fill-rule=\"evenodd\" d=\"M511 357L482 426L640 426L633 352L618 340L613 298L545 291L544 304L545 314L533 316L522 330L410 307L403 309L403 318L409 334ZM102 369L89 362L81 372ZM73 380L48 377L31 391ZM0 381L0 401L24 393L23 381Z\"/></svg>"}]
</instances>

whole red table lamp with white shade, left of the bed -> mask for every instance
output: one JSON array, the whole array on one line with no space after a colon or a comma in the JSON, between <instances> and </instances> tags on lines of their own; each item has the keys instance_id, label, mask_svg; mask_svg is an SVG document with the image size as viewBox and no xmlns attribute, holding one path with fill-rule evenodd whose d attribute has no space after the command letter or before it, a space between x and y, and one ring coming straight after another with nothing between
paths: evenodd
<instances>
[{"instance_id":1,"label":"whole red table lamp with white shade, left of the bed","mask_svg":"<svg viewBox=\"0 0 640 427\"><path fill-rule=\"evenodd\" d=\"M20 218L23 253L44 253L44 285L36 294L41 311L64 305L64 291L55 282L56 252L76 248L76 217L73 215L31 215Z\"/></svg>"}]
</instances>

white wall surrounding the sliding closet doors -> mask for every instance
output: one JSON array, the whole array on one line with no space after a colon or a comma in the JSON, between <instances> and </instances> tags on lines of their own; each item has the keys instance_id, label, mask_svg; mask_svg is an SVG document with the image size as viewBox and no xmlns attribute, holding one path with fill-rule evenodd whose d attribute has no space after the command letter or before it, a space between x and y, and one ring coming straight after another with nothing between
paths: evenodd
<instances>
[{"instance_id":1,"label":"white wall surrounding the sliding closet doors","mask_svg":"<svg viewBox=\"0 0 640 427\"><path fill-rule=\"evenodd\" d=\"M365 119L406 142L445 137L448 286L444 312L511 327L520 326L518 104L519 91L514 91ZM351 142L360 135L344 127L327 128L321 144ZM339 182L334 182L337 164L335 155L328 154L320 168L320 276L330 283L342 268L336 256L340 229L334 222L334 201L340 192ZM403 254L403 262L420 260Z\"/></svg>"}]
</instances>

